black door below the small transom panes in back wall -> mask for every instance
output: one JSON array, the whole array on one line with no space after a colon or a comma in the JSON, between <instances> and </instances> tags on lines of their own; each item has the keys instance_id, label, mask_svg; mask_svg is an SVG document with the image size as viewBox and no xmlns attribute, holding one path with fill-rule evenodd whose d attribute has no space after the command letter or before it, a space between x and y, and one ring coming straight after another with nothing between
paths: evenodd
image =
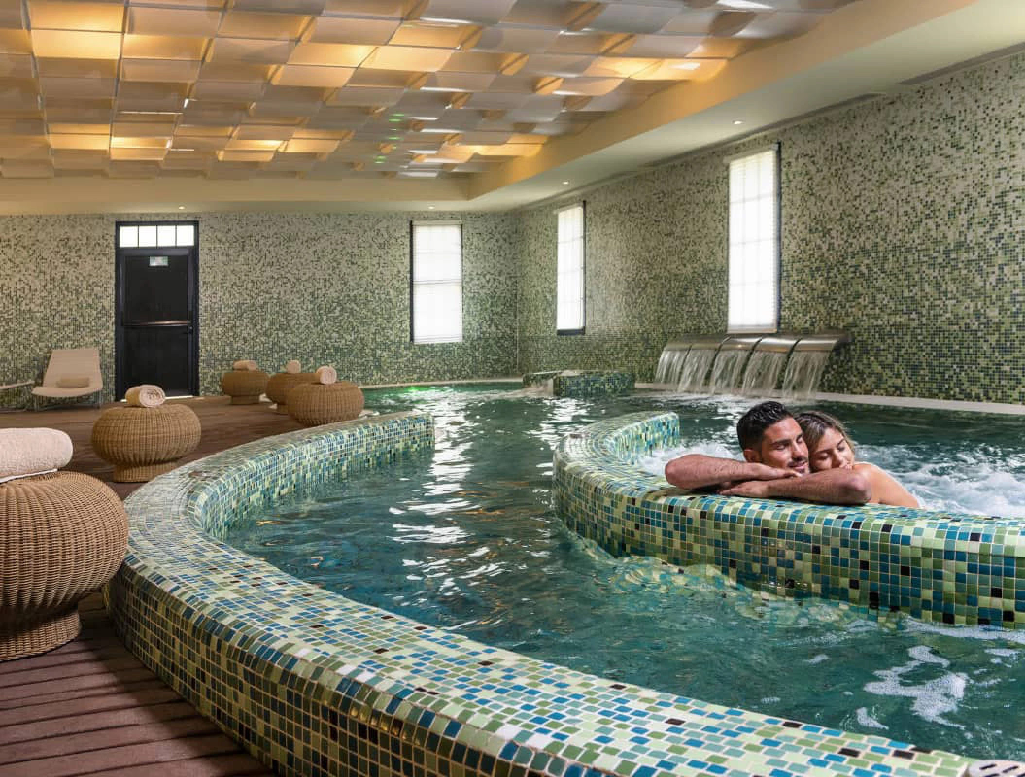
<instances>
[{"instance_id":1,"label":"black door below the small transom panes in back wall","mask_svg":"<svg viewBox=\"0 0 1025 777\"><path fill-rule=\"evenodd\" d=\"M196 246L117 249L118 397L156 383L199 394Z\"/></svg>"}]
</instances>

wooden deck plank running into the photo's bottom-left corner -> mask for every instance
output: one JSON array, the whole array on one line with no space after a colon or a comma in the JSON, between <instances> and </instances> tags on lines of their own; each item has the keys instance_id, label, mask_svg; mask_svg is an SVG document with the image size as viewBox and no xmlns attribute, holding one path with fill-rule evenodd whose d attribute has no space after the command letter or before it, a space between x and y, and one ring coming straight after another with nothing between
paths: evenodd
<instances>
[{"instance_id":1,"label":"wooden deck plank running into the photo's bottom-left corner","mask_svg":"<svg viewBox=\"0 0 1025 777\"><path fill-rule=\"evenodd\" d=\"M151 773L160 775L163 766L156 766L158 764L202 755L222 755L234 750L238 750L236 744L222 734L169 739L6 764L0 766L0 777L77 777L105 769L124 769L142 764L152 765Z\"/></svg>"}]
</instances>

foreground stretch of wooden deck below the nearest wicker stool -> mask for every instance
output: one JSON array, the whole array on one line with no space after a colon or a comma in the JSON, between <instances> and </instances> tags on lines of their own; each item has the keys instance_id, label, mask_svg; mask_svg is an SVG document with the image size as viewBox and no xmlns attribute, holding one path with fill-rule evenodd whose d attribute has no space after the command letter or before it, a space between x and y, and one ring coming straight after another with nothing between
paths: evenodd
<instances>
[{"instance_id":1,"label":"foreground stretch of wooden deck below the nearest wicker stool","mask_svg":"<svg viewBox=\"0 0 1025 777\"><path fill-rule=\"evenodd\" d=\"M64 647L0 663L0 777L273 775L114 636L98 595Z\"/></svg>"}]
</instances>

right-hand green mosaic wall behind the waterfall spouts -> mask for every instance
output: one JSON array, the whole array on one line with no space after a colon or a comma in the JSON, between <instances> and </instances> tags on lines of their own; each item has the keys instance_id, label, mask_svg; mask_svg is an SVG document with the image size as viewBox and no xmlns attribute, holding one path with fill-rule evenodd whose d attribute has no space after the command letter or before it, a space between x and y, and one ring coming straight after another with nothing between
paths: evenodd
<instances>
[{"instance_id":1,"label":"right-hand green mosaic wall behind the waterfall spouts","mask_svg":"<svg viewBox=\"0 0 1025 777\"><path fill-rule=\"evenodd\" d=\"M822 390L1025 402L1025 56L587 192L586 334L555 334L557 204L525 211L520 368L630 369L726 328L724 160L781 145L781 328L844 329Z\"/></svg>"}]
</instances>

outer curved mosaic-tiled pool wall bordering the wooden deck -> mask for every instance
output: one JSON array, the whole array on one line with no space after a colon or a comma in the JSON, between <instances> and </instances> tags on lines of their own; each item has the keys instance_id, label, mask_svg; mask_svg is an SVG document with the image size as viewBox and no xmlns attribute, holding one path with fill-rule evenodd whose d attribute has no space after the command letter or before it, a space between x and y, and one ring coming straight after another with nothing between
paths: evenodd
<instances>
[{"instance_id":1,"label":"outer curved mosaic-tiled pool wall bordering the wooden deck","mask_svg":"<svg viewBox=\"0 0 1025 777\"><path fill-rule=\"evenodd\" d=\"M955 777L965 759L571 671L360 605L222 544L254 507L433 445L422 414L269 438L126 502L129 648L283 775ZM210 533L208 533L208 530Z\"/></svg>"}]
</instances>

